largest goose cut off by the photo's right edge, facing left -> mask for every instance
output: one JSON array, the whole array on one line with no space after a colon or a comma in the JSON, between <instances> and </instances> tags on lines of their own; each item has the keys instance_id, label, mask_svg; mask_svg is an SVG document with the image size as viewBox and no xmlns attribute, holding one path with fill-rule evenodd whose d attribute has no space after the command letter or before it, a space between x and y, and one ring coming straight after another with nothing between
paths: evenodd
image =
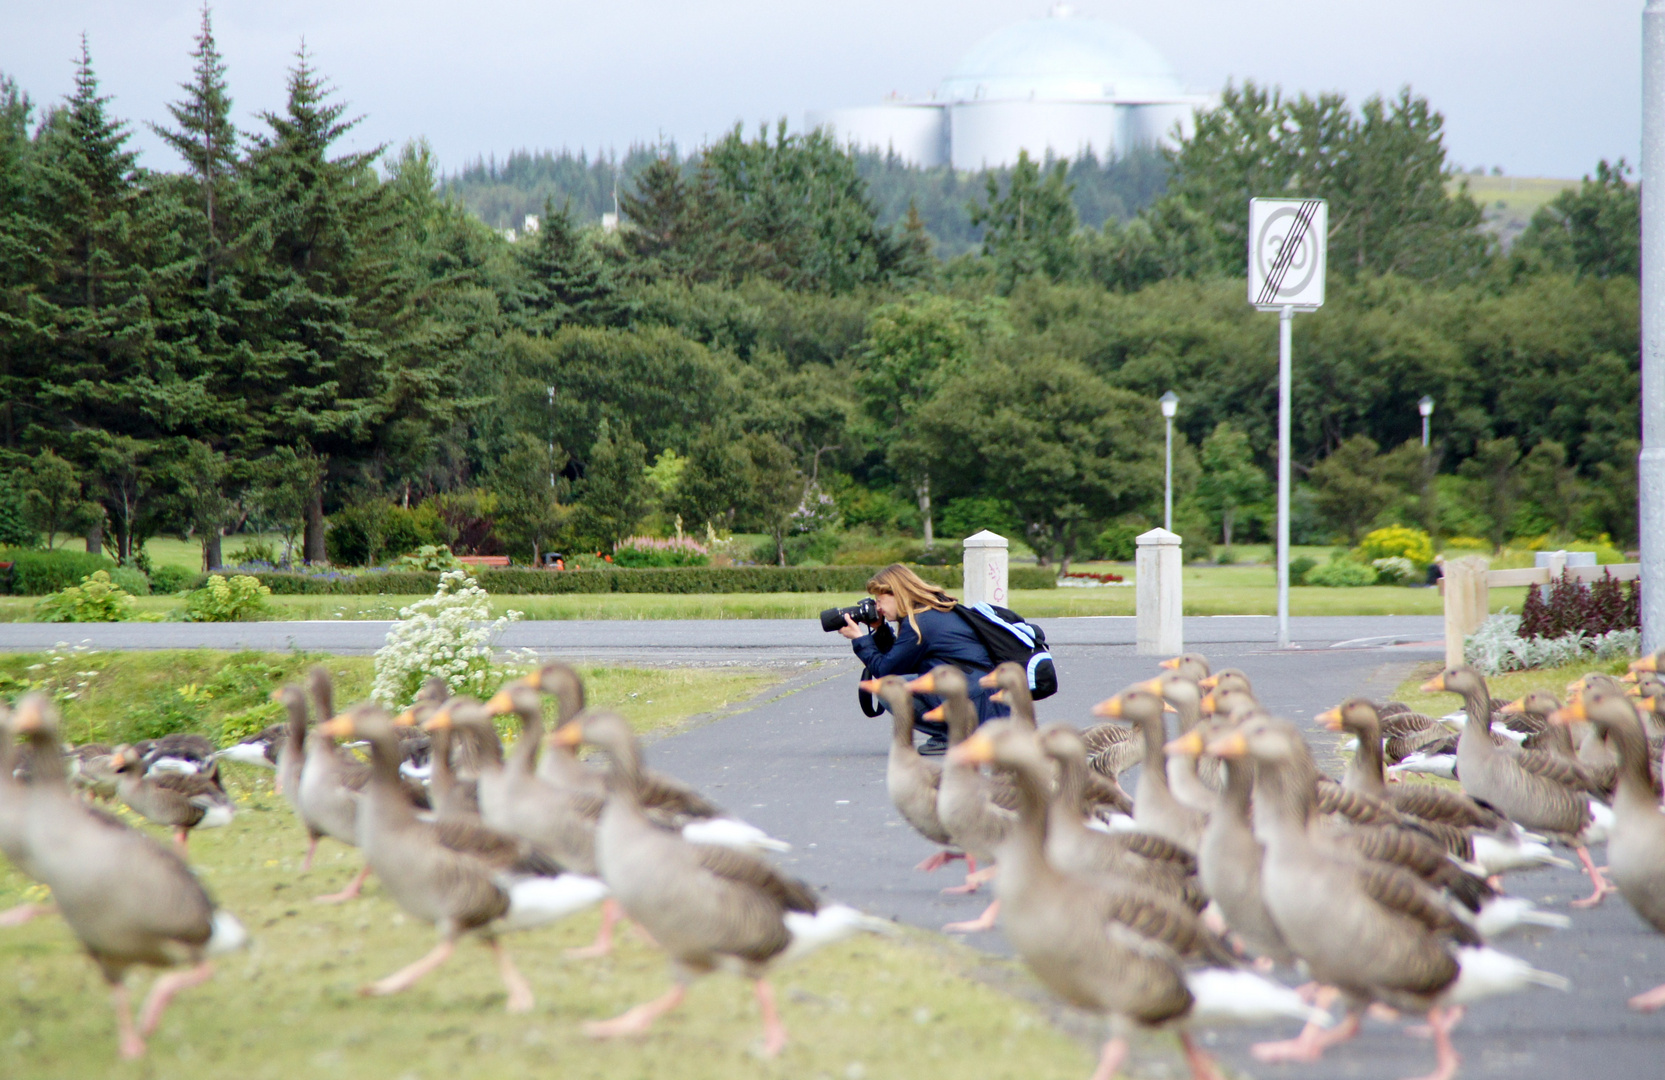
<instances>
[{"instance_id":1,"label":"largest goose cut off by the photo's right edge, facing left","mask_svg":"<svg viewBox=\"0 0 1665 1080\"><path fill-rule=\"evenodd\" d=\"M1645 709L1657 702L1643 699ZM1623 697L1592 691L1552 714L1555 724L1588 722L1618 756L1613 827L1607 840L1607 872L1618 894L1655 930L1665 934L1665 814L1653 789L1647 734ZM1665 983L1630 998L1630 1007L1665 1007Z\"/></svg>"}]
</instances>

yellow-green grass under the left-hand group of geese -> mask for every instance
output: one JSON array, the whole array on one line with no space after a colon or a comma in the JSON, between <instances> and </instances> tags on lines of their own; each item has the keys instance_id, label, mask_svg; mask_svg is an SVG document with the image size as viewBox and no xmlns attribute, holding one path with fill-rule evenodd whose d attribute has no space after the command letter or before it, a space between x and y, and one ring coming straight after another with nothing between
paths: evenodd
<instances>
[{"instance_id":1,"label":"yellow-green grass under the left-hand group of geese","mask_svg":"<svg viewBox=\"0 0 1665 1080\"><path fill-rule=\"evenodd\" d=\"M205 654L173 659L180 681L208 674ZM361 661L330 664L343 691L363 684ZM112 662L102 677L112 696L123 686L128 696L143 696L155 674L150 664ZM593 697L636 709L638 726L663 716L646 707L649 692L659 706L679 701L673 717L679 719L766 681L706 671L588 674ZM107 687L98 686L72 702L72 712L105 709ZM42 917L0 930L7 973L0 980L0 1077L1027 1080L1076 1078L1091 1067L1089 1048L1051 1023L1034 1003L1044 998L1017 965L912 930L844 942L779 970L774 985L791 1043L776 1062L758 1057L761 1027L751 988L729 975L696 983L688 1003L646 1038L584 1038L581 1022L611 1017L669 985L664 959L628 930L609 959L566 959L566 949L594 935L594 912L504 939L538 997L529 1015L504 1012L503 985L475 944L408 993L360 998L358 987L425 954L435 932L400 912L375 880L356 902L313 904L311 897L346 884L360 865L356 852L326 840L311 872L301 874L306 835L273 792L271 774L243 765L225 772L238 815L225 829L195 835L191 862L253 934L251 949L220 960L210 983L175 1000L148 1058L122 1063L103 983L63 922ZM162 837L158 829L140 827ZM896 867L897 875L909 872ZM0 909L42 899L43 889L0 864ZM137 1000L148 975L135 973L132 983ZM1017 987L1019 995L996 985Z\"/></svg>"}]
</instances>

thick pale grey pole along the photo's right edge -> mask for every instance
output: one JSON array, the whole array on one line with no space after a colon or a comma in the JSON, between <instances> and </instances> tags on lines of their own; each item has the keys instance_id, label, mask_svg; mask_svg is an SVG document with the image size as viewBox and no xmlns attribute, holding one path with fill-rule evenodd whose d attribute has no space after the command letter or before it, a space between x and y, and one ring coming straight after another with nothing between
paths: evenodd
<instances>
[{"instance_id":1,"label":"thick pale grey pole along the photo's right edge","mask_svg":"<svg viewBox=\"0 0 1665 1080\"><path fill-rule=\"evenodd\" d=\"M1642 651L1665 646L1665 0L1642 12Z\"/></svg>"}]
</instances>

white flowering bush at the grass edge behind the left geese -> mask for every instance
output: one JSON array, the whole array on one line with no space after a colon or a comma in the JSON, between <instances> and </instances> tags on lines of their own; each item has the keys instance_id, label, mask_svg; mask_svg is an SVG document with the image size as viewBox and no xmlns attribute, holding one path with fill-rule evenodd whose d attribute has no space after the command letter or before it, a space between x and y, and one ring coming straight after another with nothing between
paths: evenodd
<instances>
[{"instance_id":1,"label":"white flowering bush at the grass edge behind the left geese","mask_svg":"<svg viewBox=\"0 0 1665 1080\"><path fill-rule=\"evenodd\" d=\"M453 694L485 697L504 679L491 642L519 617L521 612L509 611L491 619L490 596L468 571L440 574L440 589L401 607L386 644L376 649L376 682L370 696L390 709L403 709L423 681L438 676Z\"/></svg>"}]
</instances>

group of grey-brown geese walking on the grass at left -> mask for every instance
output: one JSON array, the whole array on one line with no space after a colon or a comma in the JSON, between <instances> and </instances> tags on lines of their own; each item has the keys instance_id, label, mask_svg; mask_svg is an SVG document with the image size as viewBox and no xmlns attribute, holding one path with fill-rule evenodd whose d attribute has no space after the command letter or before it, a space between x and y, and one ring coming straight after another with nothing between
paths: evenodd
<instances>
[{"instance_id":1,"label":"group of grey-brown geese walking on the grass at left","mask_svg":"<svg viewBox=\"0 0 1665 1080\"><path fill-rule=\"evenodd\" d=\"M558 702L553 731L544 694ZM823 904L761 857L788 844L648 769L629 722L584 709L583 682L564 664L541 667L490 702L448 697L433 679L400 716L370 702L335 712L321 667L306 689L285 686L273 697L288 721L225 751L178 737L63 747L48 697L28 694L10 714L0 706L0 852L52 892L50 905L0 914L0 925L52 910L63 917L110 987L127 1058L145 1053L173 995L208 980L213 957L248 942L185 860L191 829L230 820L221 757L276 770L310 839L305 867L326 837L360 849L363 870L320 900L350 900L375 875L395 904L436 927L431 952L363 987L365 995L411 987L471 934L496 960L508 1010L528 1012L531 987L501 935L601 904L601 934L578 954L606 954L616 920L628 917L668 954L674 978L663 997L588 1023L589 1035L644 1032L681 1003L696 977L731 969L754 982L764 1052L776 1055L786 1028L768 972L852 934L891 930ZM504 714L519 721L508 751L496 729ZM603 751L608 767L581 760L583 746ZM368 749L368 760L346 747ZM100 794L173 829L175 842L100 809ZM135 1023L127 972L180 965L153 983Z\"/></svg>"}]
</instances>

